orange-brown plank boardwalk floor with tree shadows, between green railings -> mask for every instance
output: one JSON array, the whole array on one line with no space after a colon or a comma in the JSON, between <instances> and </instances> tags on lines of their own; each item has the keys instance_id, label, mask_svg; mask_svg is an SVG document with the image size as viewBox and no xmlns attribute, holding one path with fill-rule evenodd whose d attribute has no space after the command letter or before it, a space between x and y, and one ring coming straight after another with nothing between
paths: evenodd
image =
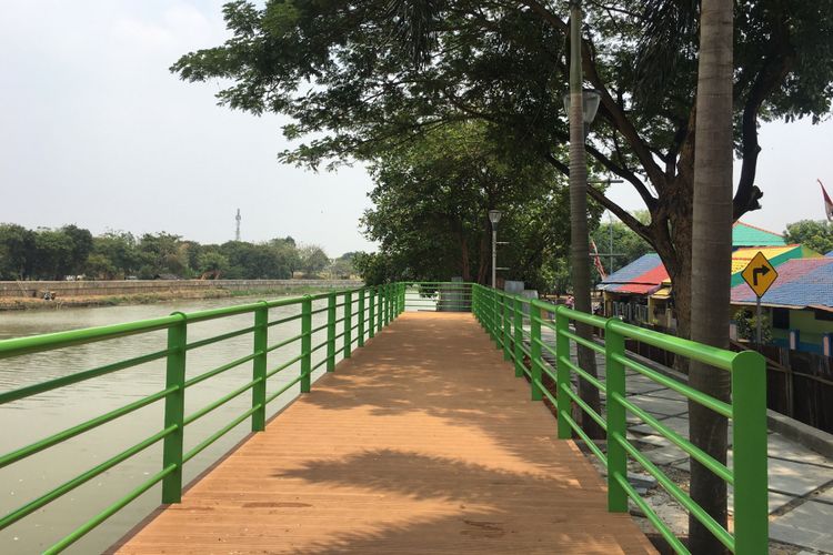
<instances>
[{"instance_id":1,"label":"orange-brown plank boardwalk floor with tree shadows, between green railings","mask_svg":"<svg viewBox=\"0 0 833 555\"><path fill-rule=\"evenodd\" d=\"M655 553L471 314L407 313L120 553Z\"/></svg>"}]
</instances>

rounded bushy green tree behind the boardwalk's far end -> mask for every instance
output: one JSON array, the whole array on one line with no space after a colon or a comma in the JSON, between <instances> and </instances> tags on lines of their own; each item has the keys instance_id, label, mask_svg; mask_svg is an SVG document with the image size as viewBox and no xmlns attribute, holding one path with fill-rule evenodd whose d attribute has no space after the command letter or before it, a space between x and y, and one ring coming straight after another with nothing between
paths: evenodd
<instances>
[{"instance_id":1,"label":"rounded bushy green tree behind the boardwalk's far end","mask_svg":"<svg viewBox=\"0 0 833 555\"><path fill-rule=\"evenodd\" d=\"M511 157L480 122L425 133L392 148L370 167L374 208L362 218L380 243L389 279L486 283L491 270L490 209L500 209L499 248L509 279L549 290L543 269L566 252L568 190L538 157ZM598 209L588 214L591 224ZM367 276L365 276L367 279Z\"/></svg>"}]
</instances>

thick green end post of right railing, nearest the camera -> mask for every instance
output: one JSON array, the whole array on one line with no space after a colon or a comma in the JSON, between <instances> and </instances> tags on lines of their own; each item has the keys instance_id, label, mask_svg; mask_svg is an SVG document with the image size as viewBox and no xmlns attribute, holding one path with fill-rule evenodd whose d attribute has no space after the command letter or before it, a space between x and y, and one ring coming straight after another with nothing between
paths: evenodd
<instances>
[{"instance_id":1,"label":"thick green end post of right railing, nearest the camera","mask_svg":"<svg viewBox=\"0 0 833 555\"><path fill-rule=\"evenodd\" d=\"M744 351L732 361L735 553L767 553L766 362Z\"/></svg>"}]
</instances>

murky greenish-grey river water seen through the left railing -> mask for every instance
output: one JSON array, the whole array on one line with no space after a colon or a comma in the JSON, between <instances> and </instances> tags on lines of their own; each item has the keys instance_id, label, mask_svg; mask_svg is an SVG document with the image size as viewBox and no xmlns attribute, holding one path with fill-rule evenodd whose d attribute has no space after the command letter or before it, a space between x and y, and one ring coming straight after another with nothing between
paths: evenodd
<instances>
[{"instance_id":1,"label":"murky greenish-grey river water seen through the left railing","mask_svg":"<svg viewBox=\"0 0 833 555\"><path fill-rule=\"evenodd\" d=\"M0 339L131 322L162 316L174 311L194 312L255 300L241 297L189 300L139 306L4 312L0 313ZM313 310L322 307L324 303L324 301L317 302ZM299 305L272 309L270 321L297 314L299 311ZM313 329L323 324L325 316L325 313L317 314L313 317ZM211 337L251 326L252 323L253 315L243 314L192 324L188 329L188 340L192 342ZM339 333L341 331L340 329ZM300 319L270 327L269 344L273 345L290 339L299 332ZM322 342L324 335L325 331L315 333L312 340L313 346ZM158 331L0 360L0 392L160 351L164 349L165 337L167 332ZM340 344L339 340L337 346ZM300 342L294 342L273 351L269 355L268 370L297 356L299 350ZM189 351L187 377L197 376L234 359L245 356L251 351L251 334ZM324 355L324 349L313 353L313 365ZM267 394L275 392L283 384L292 381L299 372L299 364L293 364L272 376L268 383ZM322 373L323 367L313 374L313 380ZM164 374L165 362L162 359L0 405L0 455L155 393L164 389ZM244 385L251 379L252 365L248 362L189 387L185 394L185 415ZM285 406L298 393L299 386L295 385L275 398L268 407L267 416ZM0 517L159 432L163 427L163 401L155 402L91 432L6 468L0 468ZM251 393L245 392L188 425L184 440L185 452L249 407L251 407ZM249 433L250 427L250 420L243 421L212 446L188 462L184 466L184 483L194 478L233 447ZM162 443L159 442L22 521L0 531L0 553L42 552L138 487L161 467ZM161 486L157 485L71 546L67 553L100 553L150 514L160 502Z\"/></svg>"}]
</instances>

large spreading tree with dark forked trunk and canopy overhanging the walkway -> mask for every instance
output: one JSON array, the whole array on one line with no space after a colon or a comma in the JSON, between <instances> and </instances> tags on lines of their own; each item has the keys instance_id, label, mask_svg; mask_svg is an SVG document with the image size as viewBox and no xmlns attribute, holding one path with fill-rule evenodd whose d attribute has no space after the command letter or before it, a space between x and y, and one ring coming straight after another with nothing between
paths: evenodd
<instances>
[{"instance_id":1,"label":"large spreading tree with dark forked trunk and canopy overhanging the walkway","mask_svg":"<svg viewBox=\"0 0 833 555\"><path fill-rule=\"evenodd\" d=\"M269 1L224 8L232 37L183 56L189 81L231 79L220 103L292 118L284 134L313 134L280 159L318 167L369 160L431 129L482 120L563 173L568 141L568 22L539 0ZM743 161L733 218L760 208L760 120L823 117L830 109L831 0L759 0L736 7L735 150ZM602 105L588 152L628 181L648 224L591 186L588 193L660 254L681 332L691 310L692 202L699 2L591 4L581 56ZM309 83L312 83L310 87Z\"/></svg>"}]
</instances>

